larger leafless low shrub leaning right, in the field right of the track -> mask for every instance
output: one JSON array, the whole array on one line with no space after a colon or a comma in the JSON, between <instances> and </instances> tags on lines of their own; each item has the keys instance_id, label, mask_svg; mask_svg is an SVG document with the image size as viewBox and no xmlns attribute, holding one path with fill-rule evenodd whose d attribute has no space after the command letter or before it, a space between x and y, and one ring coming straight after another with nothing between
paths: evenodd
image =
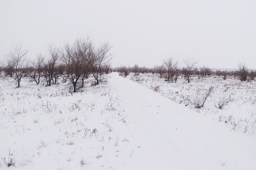
<instances>
[{"instance_id":1,"label":"larger leafless low shrub leaning right, in the field right of the track","mask_svg":"<svg viewBox=\"0 0 256 170\"><path fill-rule=\"evenodd\" d=\"M204 106L204 103L206 102L207 98L210 96L210 94L213 91L213 86L210 86L208 90L206 90L202 95L199 90L197 90L196 96L192 100L192 104L195 108L201 108Z\"/></svg>"}]
</instances>

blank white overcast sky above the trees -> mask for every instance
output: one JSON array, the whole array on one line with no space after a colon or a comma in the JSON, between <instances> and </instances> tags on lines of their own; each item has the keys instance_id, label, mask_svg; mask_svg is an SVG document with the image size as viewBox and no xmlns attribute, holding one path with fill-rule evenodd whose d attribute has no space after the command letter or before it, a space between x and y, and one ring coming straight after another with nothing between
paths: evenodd
<instances>
[{"instance_id":1,"label":"blank white overcast sky above the trees","mask_svg":"<svg viewBox=\"0 0 256 170\"><path fill-rule=\"evenodd\" d=\"M34 58L49 43L90 35L113 46L112 66L151 67L172 56L256 69L255 8L255 0L1 0L0 58L17 42Z\"/></svg>"}]
</instances>

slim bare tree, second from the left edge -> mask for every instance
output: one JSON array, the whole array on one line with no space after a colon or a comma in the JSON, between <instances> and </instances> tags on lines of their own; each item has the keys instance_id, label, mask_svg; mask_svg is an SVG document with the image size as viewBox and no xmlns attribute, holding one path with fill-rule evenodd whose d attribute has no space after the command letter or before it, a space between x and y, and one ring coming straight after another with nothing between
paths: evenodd
<instances>
[{"instance_id":1,"label":"slim bare tree, second from the left edge","mask_svg":"<svg viewBox=\"0 0 256 170\"><path fill-rule=\"evenodd\" d=\"M30 73L30 77L36 81L36 84L41 83L41 79L43 77L43 64L44 64L44 57L41 53L37 55L36 60L33 62L34 70Z\"/></svg>"}]
</instances>

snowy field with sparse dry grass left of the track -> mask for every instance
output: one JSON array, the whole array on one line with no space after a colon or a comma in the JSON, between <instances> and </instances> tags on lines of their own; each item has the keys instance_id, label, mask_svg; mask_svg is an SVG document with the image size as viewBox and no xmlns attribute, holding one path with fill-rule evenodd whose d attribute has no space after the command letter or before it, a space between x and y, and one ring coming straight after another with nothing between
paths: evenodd
<instances>
[{"instance_id":1,"label":"snowy field with sparse dry grass left of the track","mask_svg":"<svg viewBox=\"0 0 256 170\"><path fill-rule=\"evenodd\" d=\"M10 81L0 81L1 169L8 159L18 169L117 169L138 149L109 85L71 94Z\"/></svg>"}]
</instances>

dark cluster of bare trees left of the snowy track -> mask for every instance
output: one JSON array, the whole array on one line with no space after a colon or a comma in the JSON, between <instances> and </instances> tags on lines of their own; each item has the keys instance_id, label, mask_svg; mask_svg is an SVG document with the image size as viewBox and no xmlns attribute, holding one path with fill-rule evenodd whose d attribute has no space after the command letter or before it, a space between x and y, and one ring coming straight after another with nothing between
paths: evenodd
<instances>
[{"instance_id":1,"label":"dark cluster of bare trees left of the snowy track","mask_svg":"<svg viewBox=\"0 0 256 170\"><path fill-rule=\"evenodd\" d=\"M103 73L110 72L111 45L108 42L95 46L90 37L77 38L72 44L65 43L61 47L48 47L48 55L39 53L36 59L30 61L28 50L22 45L13 49L2 61L1 71L5 77L11 77L20 87L22 78L30 77L36 84L45 82L47 86L57 84L60 77L68 81L74 92L78 87L84 87L85 79L91 74L98 85L105 78Z\"/></svg>"}]
</instances>

